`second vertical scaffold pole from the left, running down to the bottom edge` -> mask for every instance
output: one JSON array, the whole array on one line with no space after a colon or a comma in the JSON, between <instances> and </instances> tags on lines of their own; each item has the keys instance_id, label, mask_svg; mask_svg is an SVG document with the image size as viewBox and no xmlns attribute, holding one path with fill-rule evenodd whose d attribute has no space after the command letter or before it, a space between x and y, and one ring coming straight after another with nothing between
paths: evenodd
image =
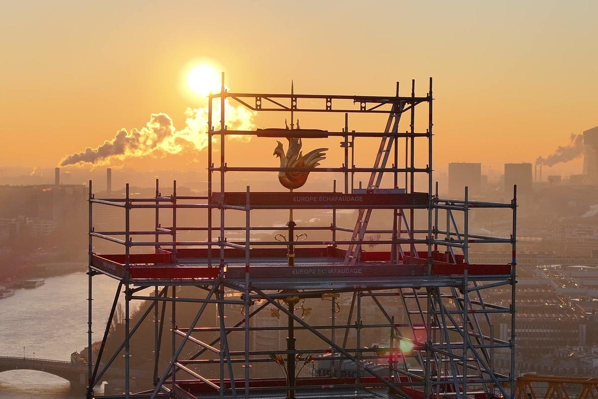
<instances>
[{"instance_id":1,"label":"second vertical scaffold pole from the left, running down to the bottom edge","mask_svg":"<svg viewBox=\"0 0 598 399\"><path fill-rule=\"evenodd\" d=\"M126 185L125 191L125 208L124 208L124 268L127 273L126 284L124 285L124 397L129 399L131 386L130 386L130 356L131 356L131 345L130 345L130 300L131 291L129 285L129 269L131 264L131 197L129 191L129 183Z\"/></svg>"}]
</instances>

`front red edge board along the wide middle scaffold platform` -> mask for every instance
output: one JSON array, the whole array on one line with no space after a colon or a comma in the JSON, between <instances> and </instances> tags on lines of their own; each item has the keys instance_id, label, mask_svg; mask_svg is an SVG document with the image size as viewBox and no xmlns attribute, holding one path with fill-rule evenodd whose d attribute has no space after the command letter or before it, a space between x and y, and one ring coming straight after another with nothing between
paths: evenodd
<instances>
[{"instance_id":1,"label":"front red edge board along the wide middle scaffold platform","mask_svg":"<svg viewBox=\"0 0 598 399\"><path fill-rule=\"evenodd\" d=\"M94 255L92 266L103 272L119 278L130 279L215 279L218 277L218 267L205 266L176 266L162 261L172 260L170 254L133 254L130 255L130 267L124 267L124 255ZM142 261L143 260L143 261ZM252 266L251 276L254 278L272 277L347 277L347 276L423 276L425 275L425 260L415 258L414 264L399 266L360 264L353 267L340 265L322 266L296 266L292 268L272 266ZM511 266L505 264L450 264L434 261L432 274L437 276L463 275L467 270L468 275L508 275ZM242 278L245 276L245 267L229 266L226 276L228 278Z\"/></svg>"}]
</instances>

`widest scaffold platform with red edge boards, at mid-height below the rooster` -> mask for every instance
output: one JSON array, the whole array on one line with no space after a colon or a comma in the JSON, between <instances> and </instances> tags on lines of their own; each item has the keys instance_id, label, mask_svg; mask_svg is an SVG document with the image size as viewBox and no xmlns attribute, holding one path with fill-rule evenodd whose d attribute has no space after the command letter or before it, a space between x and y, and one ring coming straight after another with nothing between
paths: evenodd
<instances>
[{"instance_id":1,"label":"widest scaffold platform with red edge boards, at mid-height below the rooster","mask_svg":"<svg viewBox=\"0 0 598 399\"><path fill-rule=\"evenodd\" d=\"M335 249L335 248L333 248ZM245 254L234 249L227 250L226 263L223 270L225 281L239 284L245 279ZM327 256L332 252L331 256ZM194 254L193 252L198 252ZM201 253L203 252L203 254ZM218 267L209 267L205 250L182 251L172 263L172 253L162 250L158 254L132 254L127 269L123 255L94 254L91 266L96 272L112 276L121 281L130 281L136 285L155 285L157 282L177 282L179 285L194 285L206 279L216 279L219 276ZM214 255L216 251L213 251ZM344 251L329 251L327 248L301 248L297 251L294 267L288 267L285 254L280 254L278 248L261 248L264 257L251 257L251 278L253 284L276 285L284 284L285 288L307 289L300 287L438 287L447 282L448 276L461 277L466 270L469 279L489 280L505 278L511 274L509 264L451 264L434 261L431 273L427 273L427 266L423 258L417 258L418 263L393 263L382 260L362 260L351 267L343 265ZM269 254L270 252L270 254ZM304 254L304 257L300 255ZM317 255L320 255L319 257ZM235 257L237 255L237 257ZM268 256L271 255L271 256ZM278 255L278 256L275 256ZM335 256L336 255L336 256ZM405 254L408 257L408 252ZM376 252L373 258L390 258L390 252ZM368 254L362 254L367 259ZM323 282L322 278L326 281ZM457 280L455 280L457 281ZM242 284L241 284L242 285Z\"/></svg>"}]
</instances>

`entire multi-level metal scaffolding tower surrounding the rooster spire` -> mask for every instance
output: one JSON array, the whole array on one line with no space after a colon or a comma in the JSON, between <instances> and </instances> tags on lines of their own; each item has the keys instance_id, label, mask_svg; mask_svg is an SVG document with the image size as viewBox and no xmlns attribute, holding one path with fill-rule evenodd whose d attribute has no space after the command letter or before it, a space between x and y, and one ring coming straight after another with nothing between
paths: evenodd
<instances>
[{"instance_id":1,"label":"entire multi-level metal scaffolding tower surrounding the rooster spire","mask_svg":"<svg viewBox=\"0 0 598 399\"><path fill-rule=\"evenodd\" d=\"M222 74L221 92L209 96L207 195L179 195L176 181L172 194L163 195L156 180L154 197L132 196L127 184L124 197L97 198L90 181L88 356L94 361L89 362L87 397L100 397L94 393L94 387L124 351L124 392L101 397L512 398L515 392L516 187L508 203L470 200L467 188L462 200L440 198L438 183L434 185L432 178L433 100L431 78L425 96L416 96L414 81L407 96L399 95L398 83L393 96L349 96L300 95L293 89L288 94L231 93L225 89ZM228 129L225 104L229 101L253 112L290 114L291 126ZM214 114L218 108L219 128L215 129L213 122L217 115ZM419 121L416 109L420 108L427 114L427 121L425 129L416 130L416 120ZM295 125L294 117L298 113L315 112L344 114L343 129L301 129L298 122ZM356 132L349 129L352 114L382 114L388 120L384 130ZM399 129L401 117L408 117L408 129L404 132ZM340 167L314 169L228 166L225 152L230 135L253 136L254 140L339 138L344 162ZM356 139L380 141L372 167L355 165ZM416 167L416 141L425 145L425 167ZM219 162L214 163L214 153L218 152ZM330 192L264 193L252 191L249 186L245 192L226 190L227 173L261 172L328 173L342 176L343 189L337 191L334 181ZM366 187L362 187L361 182L356 187L356 179L364 173L369 175ZM426 192L415 190L418 175L426 178ZM383 176L392 178L392 187L383 187ZM124 230L96 231L94 206L122 208ZM511 234L493 237L470 233L470 212L480 208L504 208L511 212ZM136 230L131 226L131 214L136 209L154 209L154 229ZM206 226L181 226L177 211L182 212L182 209L205 212ZM289 223L261 226L251 215L252 211L262 209L289 210ZM297 225L292 219L293 209L329 211L331 224ZM337 212L344 209L355 210L354 227L337 223ZM368 227L373 211L386 212L392 218L392 228ZM231 212L244 214L245 226L227 223L225 215ZM172 226L162 226L160 218L164 214L172 220ZM419 223L421 220L425 222ZM416 227L418 223L422 226ZM239 232L245 233L245 240L229 238ZM260 240L252 238L256 232L286 235L276 234L273 239ZM298 232L324 232L329 234L329 239L309 240ZM181 241L178 240L181 233L203 236ZM152 239L144 240L144 237ZM96 254L94 240L97 239L120 244L124 251ZM502 243L503 248L508 245L512 251L511 263L469 263L468 251L474 243ZM364 245L383 245L388 251L364 251ZM148 249L153 253L142 253ZM100 274L117 279L118 288L101 345L97 353L92 354L93 278ZM503 285L511 289L511 306L484 302L484 290ZM198 295L177 296L177 287L182 286L197 287ZM124 339L106 360L103 352L121 291L125 300ZM152 296L141 295L147 291L153 291ZM396 299L395 309L383 303L388 297ZM312 325L309 318L303 319L295 313L298 301L316 298L331 301L329 324ZM130 303L134 300L150 301L151 306L144 312L140 310L139 321L131 325ZM335 306L341 301L350 303L349 314L346 322L337 324ZM368 312L375 309L384 322L364 322L365 301L370 303ZM163 333L167 303L172 307L169 349L163 337L168 334ZM176 306L181 303L197 306L193 320L185 327L179 327L176 321ZM216 309L216 326L202 318L208 306ZM231 312L234 307L243 310L233 324L230 315L235 314ZM145 387L145 390L135 387L133 392L131 338L152 310L153 387ZM254 322L257 315L269 310L286 318L286 325L268 327ZM395 320L399 313L400 322ZM507 340L494 336L492 317L495 313L511 320ZM364 346L370 345L362 339L368 329L384 331L389 343ZM252 334L268 330L286 332L286 345L272 350L252 348ZM295 331L309 331L318 337L321 345L295 348ZM206 333L219 335L206 342L202 337ZM197 346L196 353L190 357L183 351L189 345ZM241 350L231 349L238 345L242 345ZM495 371L496 349L510 354L511 370L506 375ZM160 366L160 354L170 358L166 367ZM306 376L297 370L310 362L313 369L318 364L318 373L312 371L312 376ZM252 376L252 366L260 363L279 364L284 368L285 377ZM213 365L218 367L216 378L210 378L203 371Z\"/></svg>"}]
</instances>

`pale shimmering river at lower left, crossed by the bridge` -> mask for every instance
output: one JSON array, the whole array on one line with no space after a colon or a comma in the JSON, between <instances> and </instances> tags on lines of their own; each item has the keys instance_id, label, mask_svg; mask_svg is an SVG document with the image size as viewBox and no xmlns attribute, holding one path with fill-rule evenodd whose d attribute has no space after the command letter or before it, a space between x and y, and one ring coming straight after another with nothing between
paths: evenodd
<instances>
[{"instance_id":1,"label":"pale shimmering river at lower left, crossed by the bridge","mask_svg":"<svg viewBox=\"0 0 598 399\"><path fill-rule=\"evenodd\" d=\"M93 278L93 340L101 340L118 283ZM133 302L133 305L136 303ZM71 360L87 346L87 275L50 277L33 289L0 299L0 355ZM33 370L0 373L0 399L80 399L68 381Z\"/></svg>"}]
</instances>

